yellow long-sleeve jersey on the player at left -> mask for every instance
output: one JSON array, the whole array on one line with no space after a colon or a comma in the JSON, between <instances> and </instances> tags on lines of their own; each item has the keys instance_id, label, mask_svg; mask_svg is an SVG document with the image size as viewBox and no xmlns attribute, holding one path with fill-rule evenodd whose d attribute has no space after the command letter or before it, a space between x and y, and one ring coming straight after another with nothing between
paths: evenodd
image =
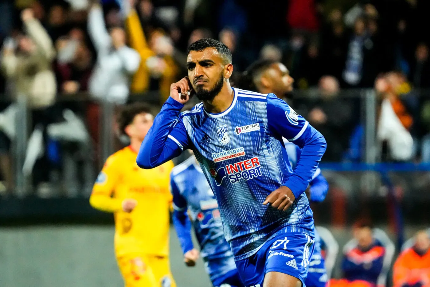
<instances>
[{"instance_id":1,"label":"yellow long-sleeve jersey on the player at left","mask_svg":"<svg viewBox=\"0 0 430 287\"><path fill-rule=\"evenodd\" d=\"M137 153L126 147L110 156L92 189L92 207L113 212L115 219L115 253L145 253L157 256L169 254L169 161L153 169L141 169L136 164ZM122 210L126 198L137 200L130 213Z\"/></svg>"}]
</instances>

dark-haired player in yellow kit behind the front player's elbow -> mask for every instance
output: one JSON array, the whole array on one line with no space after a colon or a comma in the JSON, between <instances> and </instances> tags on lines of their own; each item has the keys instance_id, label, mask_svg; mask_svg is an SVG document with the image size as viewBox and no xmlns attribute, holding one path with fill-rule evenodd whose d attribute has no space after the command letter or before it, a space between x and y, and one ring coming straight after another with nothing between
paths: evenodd
<instances>
[{"instance_id":1,"label":"dark-haired player in yellow kit behind the front player's elbow","mask_svg":"<svg viewBox=\"0 0 430 287\"><path fill-rule=\"evenodd\" d=\"M113 212L115 255L126 287L175 287L169 267L169 174L172 161L145 170L137 151L153 123L143 104L125 107L118 122L130 145L110 156L92 189L93 208Z\"/></svg>"}]
</instances>

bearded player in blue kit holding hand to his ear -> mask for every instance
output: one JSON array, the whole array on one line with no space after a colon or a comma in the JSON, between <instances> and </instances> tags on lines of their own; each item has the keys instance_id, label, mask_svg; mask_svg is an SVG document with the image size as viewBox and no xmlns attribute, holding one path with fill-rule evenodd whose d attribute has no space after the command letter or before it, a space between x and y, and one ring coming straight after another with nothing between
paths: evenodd
<instances>
[{"instance_id":1,"label":"bearded player in blue kit holding hand to his ear","mask_svg":"<svg viewBox=\"0 0 430 287\"><path fill-rule=\"evenodd\" d=\"M304 286L314 249L304 191L326 141L276 95L231 88L231 61L230 50L217 40L188 47L188 77L171 85L137 164L154 168L193 150L215 194L243 283ZM181 113L194 94L202 102ZM294 172L283 137L301 148Z\"/></svg>"}]
</instances>

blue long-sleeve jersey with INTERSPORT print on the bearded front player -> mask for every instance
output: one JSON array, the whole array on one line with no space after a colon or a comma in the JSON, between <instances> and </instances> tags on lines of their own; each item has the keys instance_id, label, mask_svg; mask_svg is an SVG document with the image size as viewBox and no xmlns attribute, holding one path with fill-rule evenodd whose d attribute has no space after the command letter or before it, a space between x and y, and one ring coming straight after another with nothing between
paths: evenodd
<instances>
[{"instance_id":1,"label":"blue long-sleeve jersey with INTERSPORT print on the bearded front player","mask_svg":"<svg viewBox=\"0 0 430 287\"><path fill-rule=\"evenodd\" d=\"M209 113L203 103L180 113L182 108L172 98L166 101L141 145L137 164L154 168L192 149L215 194L235 260L255 254L281 233L314 235L304 190L326 150L318 131L273 94L233 88L233 101L222 113ZM301 148L294 172L283 137ZM295 195L288 211L262 204L283 185Z\"/></svg>"}]
</instances>

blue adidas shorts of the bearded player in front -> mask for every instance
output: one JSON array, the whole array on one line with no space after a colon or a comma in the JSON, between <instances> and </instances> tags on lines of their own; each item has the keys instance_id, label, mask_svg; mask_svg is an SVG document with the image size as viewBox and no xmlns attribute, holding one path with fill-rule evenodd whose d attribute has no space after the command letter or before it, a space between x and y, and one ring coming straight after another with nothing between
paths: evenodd
<instances>
[{"instance_id":1,"label":"blue adidas shorts of the bearded player in front","mask_svg":"<svg viewBox=\"0 0 430 287\"><path fill-rule=\"evenodd\" d=\"M294 276L304 287L314 245L314 238L304 233L283 233L267 241L254 255L237 261L236 266L248 287L263 286L264 276L272 271Z\"/></svg>"}]
</instances>

